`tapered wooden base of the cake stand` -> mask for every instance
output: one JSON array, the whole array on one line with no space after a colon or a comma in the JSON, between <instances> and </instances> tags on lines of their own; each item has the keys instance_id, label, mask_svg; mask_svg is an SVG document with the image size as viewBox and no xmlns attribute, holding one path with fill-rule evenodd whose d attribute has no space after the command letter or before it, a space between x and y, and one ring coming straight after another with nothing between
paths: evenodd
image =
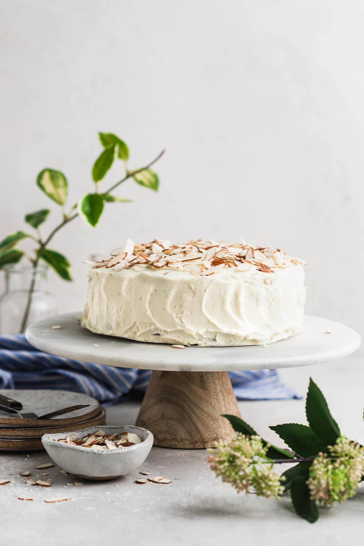
<instances>
[{"instance_id":1,"label":"tapered wooden base of the cake stand","mask_svg":"<svg viewBox=\"0 0 364 546\"><path fill-rule=\"evenodd\" d=\"M240 417L228 372L153 371L136 426L153 431L155 446L207 448L235 436L222 413Z\"/></svg>"}]
</instances>

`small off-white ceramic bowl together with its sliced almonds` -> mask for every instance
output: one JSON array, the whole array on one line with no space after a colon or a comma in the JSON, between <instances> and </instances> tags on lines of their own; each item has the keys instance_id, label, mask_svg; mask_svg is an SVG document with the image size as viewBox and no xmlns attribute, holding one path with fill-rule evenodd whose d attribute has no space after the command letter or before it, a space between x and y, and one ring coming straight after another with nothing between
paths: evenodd
<instances>
[{"instance_id":1,"label":"small off-white ceramic bowl together with its sliced almonds","mask_svg":"<svg viewBox=\"0 0 364 546\"><path fill-rule=\"evenodd\" d=\"M133 425L103 426L102 430L92 427L41 438L58 466L74 476L93 480L117 478L138 468L147 458L153 440L149 430Z\"/></svg>"}]
</instances>

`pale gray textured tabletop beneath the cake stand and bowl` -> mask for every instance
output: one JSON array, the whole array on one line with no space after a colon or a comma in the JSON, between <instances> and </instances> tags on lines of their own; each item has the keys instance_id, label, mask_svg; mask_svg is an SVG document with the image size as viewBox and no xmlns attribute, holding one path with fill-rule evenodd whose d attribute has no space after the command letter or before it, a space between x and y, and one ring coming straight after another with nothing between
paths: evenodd
<instances>
[{"instance_id":1,"label":"pale gray textured tabletop beneath the cake stand and bowl","mask_svg":"<svg viewBox=\"0 0 364 546\"><path fill-rule=\"evenodd\" d=\"M364 442L362 421L364 367L351 355L344 360L313 368L287 369L282 377L301 394L309 375L323 389L341 430ZM133 423L137 403L108 408L108 424ZM305 423L304 400L240 402L242 416L258 432L279 444L268 425L287 421ZM282 444L281 444L282 445ZM0 454L2 543L30 546L78 546L122 543L147 546L188 544L317 544L335 546L350 539L362 541L364 489L353 499L333 509L321 509L320 519L310 525L296 517L289 499L281 501L237 495L228 484L214 478L206 463L205 450L152 448L142 468L172 479L169 485L136 485L135 471L109 482L85 482L74 486L70 476L50 468L51 488L24 485L20 470L48 461L46 453ZM280 470L283 470L284 465ZM38 477L36 479L39 479ZM18 496L34 501L19 501ZM72 497L70 501L46 504L44 498Z\"/></svg>"}]
</instances>

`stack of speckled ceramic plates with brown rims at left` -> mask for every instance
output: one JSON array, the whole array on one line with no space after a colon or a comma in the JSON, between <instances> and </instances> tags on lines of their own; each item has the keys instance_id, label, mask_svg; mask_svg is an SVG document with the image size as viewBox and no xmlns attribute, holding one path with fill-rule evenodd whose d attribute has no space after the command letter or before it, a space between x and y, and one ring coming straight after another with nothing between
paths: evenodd
<instances>
[{"instance_id":1,"label":"stack of speckled ceramic plates with brown rims at left","mask_svg":"<svg viewBox=\"0 0 364 546\"><path fill-rule=\"evenodd\" d=\"M8 413L0 408L0 450L28 451L43 449L43 434L70 432L105 424L106 413L97 400L80 393L63 390L0 390L3 396L21 402L23 408L42 416L68 406L88 404L70 413L49 419L22 418L18 413Z\"/></svg>"}]
</instances>

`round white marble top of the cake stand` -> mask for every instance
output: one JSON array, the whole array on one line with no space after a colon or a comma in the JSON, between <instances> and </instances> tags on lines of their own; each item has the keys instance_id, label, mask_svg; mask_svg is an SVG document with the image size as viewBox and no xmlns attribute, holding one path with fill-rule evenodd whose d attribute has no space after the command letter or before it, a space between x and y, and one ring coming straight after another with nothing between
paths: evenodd
<instances>
[{"instance_id":1,"label":"round white marble top of the cake stand","mask_svg":"<svg viewBox=\"0 0 364 546\"><path fill-rule=\"evenodd\" d=\"M351 328L329 319L305 316L301 334L268 347L186 347L142 343L93 334L77 323L77 314L65 313L30 326L27 339L42 351L61 357L148 370L229 371L309 366L342 358L360 346ZM52 330L59 324L61 330ZM326 334L332 331L332 334Z\"/></svg>"}]
</instances>

